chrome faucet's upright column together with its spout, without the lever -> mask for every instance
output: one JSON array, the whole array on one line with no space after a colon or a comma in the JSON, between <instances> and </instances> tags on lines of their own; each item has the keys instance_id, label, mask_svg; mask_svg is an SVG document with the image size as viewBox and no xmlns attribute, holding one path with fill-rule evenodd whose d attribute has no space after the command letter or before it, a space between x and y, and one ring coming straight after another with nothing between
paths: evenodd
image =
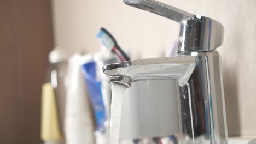
<instances>
[{"instance_id":1,"label":"chrome faucet's upright column together with its spout, without the lever","mask_svg":"<svg viewBox=\"0 0 256 144\"><path fill-rule=\"evenodd\" d=\"M225 144L228 134L220 62L217 51L189 51L179 52L177 57L109 64L103 71L109 82L125 87L135 81L177 80L183 143Z\"/></svg>"}]
</instances>

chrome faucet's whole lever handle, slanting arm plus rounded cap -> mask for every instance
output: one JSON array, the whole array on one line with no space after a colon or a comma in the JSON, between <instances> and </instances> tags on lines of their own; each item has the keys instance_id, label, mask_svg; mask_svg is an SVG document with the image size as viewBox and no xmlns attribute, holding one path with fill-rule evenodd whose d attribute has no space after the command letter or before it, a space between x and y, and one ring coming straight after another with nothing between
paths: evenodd
<instances>
[{"instance_id":1,"label":"chrome faucet's whole lever handle, slanting arm plus rounded cap","mask_svg":"<svg viewBox=\"0 0 256 144\"><path fill-rule=\"evenodd\" d=\"M124 3L179 22L178 52L208 52L223 44L223 25L209 17L190 14L155 0L124 0Z\"/></svg>"}]
</instances>

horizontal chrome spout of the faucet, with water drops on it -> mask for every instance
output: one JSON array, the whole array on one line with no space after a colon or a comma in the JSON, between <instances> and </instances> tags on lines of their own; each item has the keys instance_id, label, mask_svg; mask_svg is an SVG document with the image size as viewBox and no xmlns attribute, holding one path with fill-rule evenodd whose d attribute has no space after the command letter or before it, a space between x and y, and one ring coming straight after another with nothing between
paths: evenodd
<instances>
[{"instance_id":1,"label":"horizontal chrome spout of the faucet, with water drops on it","mask_svg":"<svg viewBox=\"0 0 256 144\"><path fill-rule=\"evenodd\" d=\"M108 82L117 82L130 87L132 82L141 80L178 80L184 86L193 73L196 56L161 57L109 64L103 72Z\"/></svg>"}]
</instances>

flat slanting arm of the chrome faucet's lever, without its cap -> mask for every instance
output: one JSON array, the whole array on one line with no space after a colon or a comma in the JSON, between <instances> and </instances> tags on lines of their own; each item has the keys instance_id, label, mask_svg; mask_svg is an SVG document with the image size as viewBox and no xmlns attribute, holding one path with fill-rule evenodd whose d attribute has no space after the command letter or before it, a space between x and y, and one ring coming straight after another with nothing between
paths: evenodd
<instances>
[{"instance_id":1,"label":"flat slanting arm of the chrome faucet's lever, without its cap","mask_svg":"<svg viewBox=\"0 0 256 144\"><path fill-rule=\"evenodd\" d=\"M150 11L151 13L164 16L177 22L193 19L193 17L195 17L195 15L190 14L187 11L155 0L124 0L124 3L135 8L143 9Z\"/></svg>"}]
</instances>

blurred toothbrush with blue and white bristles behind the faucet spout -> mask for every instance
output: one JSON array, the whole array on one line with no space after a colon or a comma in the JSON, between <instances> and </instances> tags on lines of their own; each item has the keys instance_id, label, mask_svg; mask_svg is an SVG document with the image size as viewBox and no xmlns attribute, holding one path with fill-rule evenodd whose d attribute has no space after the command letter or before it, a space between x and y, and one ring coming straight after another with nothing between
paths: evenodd
<instances>
[{"instance_id":1,"label":"blurred toothbrush with blue and white bristles behind the faucet spout","mask_svg":"<svg viewBox=\"0 0 256 144\"><path fill-rule=\"evenodd\" d=\"M121 61L130 60L125 52L121 50L113 35L111 35L105 28L100 29L100 32L97 33L97 38L100 39L101 43L106 46L107 49L110 49L113 53L115 53Z\"/></svg>"}]
</instances>

